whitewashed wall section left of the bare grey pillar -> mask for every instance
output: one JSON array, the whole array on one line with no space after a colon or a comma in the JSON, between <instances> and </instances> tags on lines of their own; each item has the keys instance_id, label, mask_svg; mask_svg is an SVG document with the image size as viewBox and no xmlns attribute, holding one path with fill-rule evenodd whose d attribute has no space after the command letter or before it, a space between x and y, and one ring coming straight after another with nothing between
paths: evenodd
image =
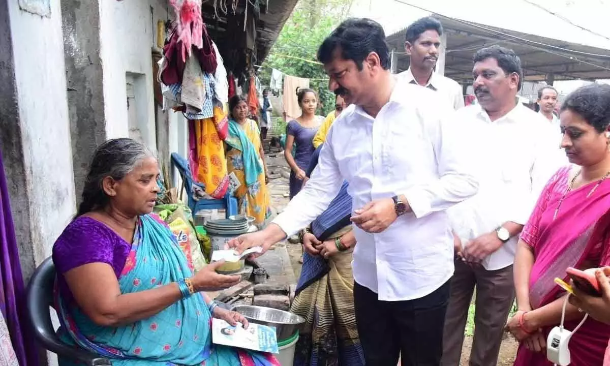
<instances>
[{"instance_id":1,"label":"whitewashed wall section left of the bare grey pillar","mask_svg":"<svg viewBox=\"0 0 610 366\"><path fill-rule=\"evenodd\" d=\"M0 49L0 148L28 281L76 212L59 1L40 16L0 0Z\"/></svg>"}]
</instances>

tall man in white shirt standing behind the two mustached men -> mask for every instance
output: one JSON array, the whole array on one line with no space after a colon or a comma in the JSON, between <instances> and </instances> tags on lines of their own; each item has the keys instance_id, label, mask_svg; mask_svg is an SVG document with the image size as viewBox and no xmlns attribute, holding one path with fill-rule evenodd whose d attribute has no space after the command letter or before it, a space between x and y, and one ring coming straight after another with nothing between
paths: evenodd
<instances>
[{"instance_id":1,"label":"tall man in white shirt standing behind the two mustached men","mask_svg":"<svg viewBox=\"0 0 610 366\"><path fill-rule=\"evenodd\" d=\"M398 77L436 91L440 97L437 100L448 102L453 109L460 109L464 107L462 87L456 81L434 72L439 59L441 35L442 25L431 16L407 27L404 51L409 55L409 68L398 74Z\"/></svg>"}]
</instances>

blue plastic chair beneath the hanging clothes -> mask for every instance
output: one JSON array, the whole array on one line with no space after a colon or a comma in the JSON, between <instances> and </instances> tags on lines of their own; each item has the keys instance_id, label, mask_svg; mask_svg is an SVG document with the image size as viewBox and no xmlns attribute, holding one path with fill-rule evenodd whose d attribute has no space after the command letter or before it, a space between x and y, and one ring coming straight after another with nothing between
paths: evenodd
<instances>
[{"instance_id":1,"label":"blue plastic chair beneath the hanging clothes","mask_svg":"<svg viewBox=\"0 0 610 366\"><path fill-rule=\"evenodd\" d=\"M199 210L214 209L224 209L226 218L237 215L237 198L231 196L230 193L224 195L224 198L222 199L194 199L192 192L193 174L190 171L187 160L180 156L178 152L172 152L171 163L178 169L178 173L180 173L180 176L182 177L182 182L184 182L184 188L187 192L187 205L188 208L190 208L193 217L195 217L195 213Z\"/></svg>"}]
</instances>

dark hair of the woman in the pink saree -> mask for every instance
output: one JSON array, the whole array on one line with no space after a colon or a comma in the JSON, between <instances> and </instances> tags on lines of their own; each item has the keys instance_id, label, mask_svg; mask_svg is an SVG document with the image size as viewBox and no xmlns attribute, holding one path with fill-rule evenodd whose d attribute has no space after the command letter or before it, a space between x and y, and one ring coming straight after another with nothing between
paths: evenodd
<instances>
[{"instance_id":1,"label":"dark hair of the woman in the pink saree","mask_svg":"<svg viewBox=\"0 0 610 366\"><path fill-rule=\"evenodd\" d=\"M561 104L561 111L566 109L583 117L595 131L606 131L610 125L610 85L589 84L572 91Z\"/></svg>"}]
</instances>

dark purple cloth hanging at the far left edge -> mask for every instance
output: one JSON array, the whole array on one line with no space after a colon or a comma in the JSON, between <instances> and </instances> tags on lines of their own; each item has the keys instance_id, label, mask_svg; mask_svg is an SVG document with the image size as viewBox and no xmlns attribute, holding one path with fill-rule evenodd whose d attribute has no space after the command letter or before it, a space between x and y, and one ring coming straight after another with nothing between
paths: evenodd
<instances>
[{"instance_id":1,"label":"dark purple cloth hanging at the far left edge","mask_svg":"<svg viewBox=\"0 0 610 366\"><path fill-rule=\"evenodd\" d=\"M0 330L0 349L12 346L20 365L38 365L38 348L30 334L26 318L26 288L21 274L21 264L15 237L15 227L9 203L9 188L4 175L4 163L0 153L0 318L6 320L8 335ZM0 360L2 351L0 351ZM15 365L14 363L12 365Z\"/></svg>"}]
</instances>

